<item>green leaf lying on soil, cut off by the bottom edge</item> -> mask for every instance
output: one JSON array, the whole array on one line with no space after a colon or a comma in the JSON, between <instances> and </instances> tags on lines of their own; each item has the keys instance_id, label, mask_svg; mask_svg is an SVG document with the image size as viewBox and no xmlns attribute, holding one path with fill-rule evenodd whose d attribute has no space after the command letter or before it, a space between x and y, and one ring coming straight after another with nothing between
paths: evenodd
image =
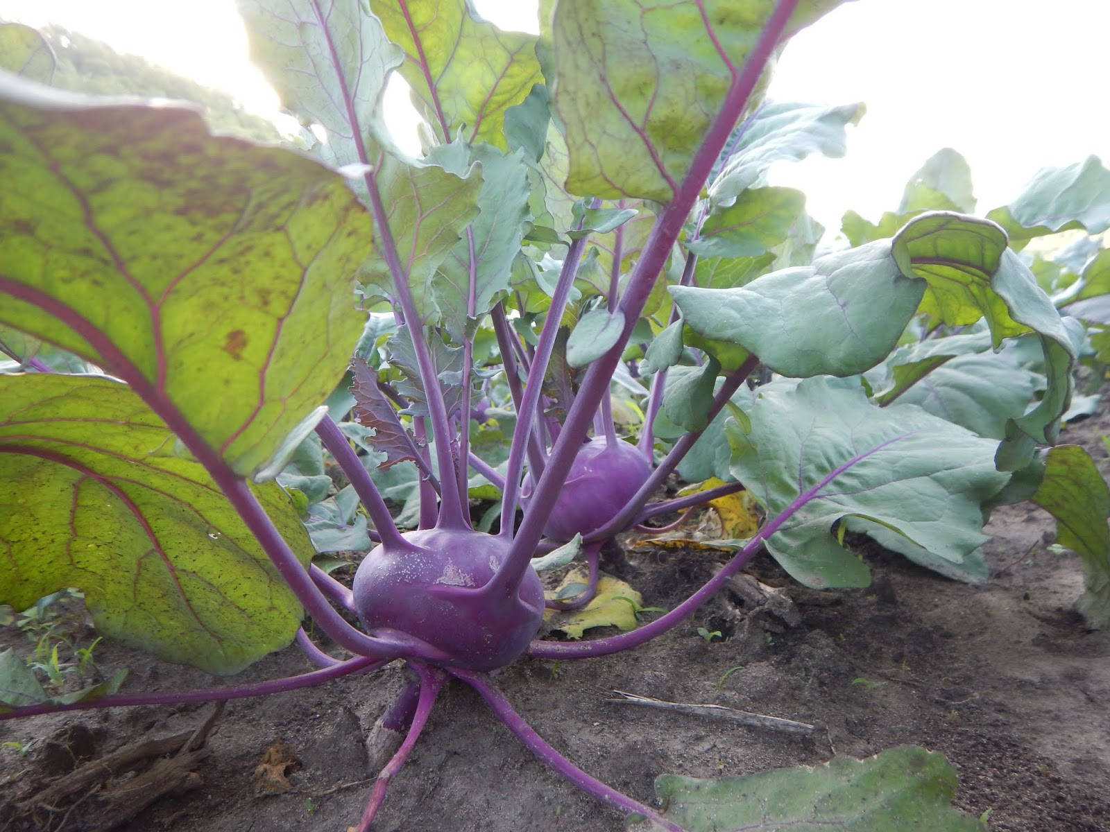
<instances>
[{"instance_id":1,"label":"green leaf lying on soil, cut off by the bottom edge","mask_svg":"<svg viewBox=\"0 0 1110 832\"><path fill-rule=\"evenodd\" d=\"M914 745L735 778L664 774L655 791L687 832L986 832L951 806L956 770Z\"/></svg>"}]
</instances>

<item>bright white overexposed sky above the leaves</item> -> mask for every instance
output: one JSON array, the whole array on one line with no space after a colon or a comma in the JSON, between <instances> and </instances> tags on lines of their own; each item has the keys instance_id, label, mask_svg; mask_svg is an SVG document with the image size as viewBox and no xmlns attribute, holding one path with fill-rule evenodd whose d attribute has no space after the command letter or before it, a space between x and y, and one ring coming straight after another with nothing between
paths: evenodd
<instances>
[{"instance_id":1,"label":"bright white overexposed sky above the leaves","mask_svg":"<svg viewBox=\"0 0 1110 832\"><path fill-rule=\"evenodd\" d=\"M506 28L536 31L534 0L475 0ZM276 98L250 65L233 0L0 0L0 18L56 22L119 51L226 89L269 114ZM837 227L847 209L894 210L906 180L952 146L971 165L982 212L1041 166L1094 153L1110 162L1108 0L856 0L800 33L771 97L865 101L842 160L781 164L776 184L809 196ZM403 93L402 93L403 94Z\"/></svg>"}]
</instances>

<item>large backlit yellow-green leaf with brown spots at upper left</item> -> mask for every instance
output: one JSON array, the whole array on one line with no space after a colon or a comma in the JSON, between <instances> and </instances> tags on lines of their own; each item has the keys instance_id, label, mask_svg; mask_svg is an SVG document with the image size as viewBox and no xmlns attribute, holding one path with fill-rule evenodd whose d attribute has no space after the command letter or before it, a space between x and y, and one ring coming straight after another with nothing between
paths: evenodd
<instances>
[{"instance_id":1,"label":"large backlit yellow-green leaf with brown spots at upper left","mask_svg":"<svg viewBox=\"0 0 1110 832\"><path fill-rule=\"evenodd\" d=\"M123 378L236 474L264 468L362 328L373 236L342 177L193 110L11 77L0 148L0 324Z\"/></svg>"}]
</instances>

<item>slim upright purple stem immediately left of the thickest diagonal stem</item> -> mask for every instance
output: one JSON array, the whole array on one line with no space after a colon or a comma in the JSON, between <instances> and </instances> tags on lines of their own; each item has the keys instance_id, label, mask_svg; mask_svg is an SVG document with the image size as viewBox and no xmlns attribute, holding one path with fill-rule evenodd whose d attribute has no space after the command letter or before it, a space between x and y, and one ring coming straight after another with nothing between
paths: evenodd
<instances>
[{"instance_id":1,"label":"slim upright purple stem immediately left of the thickest diagonal stem","mask_svg":"<svg viewBox=\"0 0 1110 832\"><path fill-rule=\"evenodd\" d=\"M578 263L582 260L582 252L586 247L586 237L582 236L571 241L567 247L566 258L563 261L563 271L559 273L558 283L555 285L555 293L552 297L552 305L547 310L543 328L539 331L539 342L536 344L535 357L532 367L528 369L528 378L524 385L524 397L521 407L516 412L516 426L513 428L513 444L509 446L508 466L505 471L505 493L502 497L501 507L501 534L513 534L513 518L516 516L516 506L519 497L521 469L524 465L524 449L527 445L527 436L532 433L532 426L536 419L536 405L539 403L539 394L543 392L544 375L547 373L547 364L551 361L552 352L555 348L555 337L558 335L559 323L563 319L563 310L566 308L571 297L571 290L574 287L574 278L578 273ZM597 407L597 402L594 403ZM585 436L585 430L583 430ZM567 465L569 469L569 464ZM563 477L566 477L564 471ZM545 509L549 511L551 509ZM546 516L544 520L546 521ZM536 539L538 542L538 538ZM535 544L533 544L535 546ZM501 571L501 570L498 570ZM512 581L506 587L506 595L512 593L519 582L521 571L516 576L517 580Z\"/></svg>"}]
</instances>

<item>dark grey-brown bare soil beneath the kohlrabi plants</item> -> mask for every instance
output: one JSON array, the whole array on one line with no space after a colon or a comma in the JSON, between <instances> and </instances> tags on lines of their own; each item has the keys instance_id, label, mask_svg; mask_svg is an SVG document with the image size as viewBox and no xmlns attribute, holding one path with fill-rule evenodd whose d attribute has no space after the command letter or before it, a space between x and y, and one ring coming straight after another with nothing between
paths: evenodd
<instances>
[{"instance_id":1,"label":"dark grey-brown bare soil beneath the kohlrabi plants","mask_svg":"<svg viewBox=\"0 0 1110 832\"><path fill-rule=\"evenodd\" d=\"M1101 415L1066 429L1106 475ZM769 559L688 622L617 656L521 660L496 677L518 712L556 749L609 785L654 802L654 778L745 774L866 757L900 744L942 752L959 772L956 805L995 832L1110 830L1110 631L1072 611L1079 564L1048 548L1052 519L1028 505L997 510L990 579L957 584L862 545L874 584L816 591ZM670 607L723 561L709 551L630 550L605 567ZM743 591L741 591L743 590ZM719 630L723 640L698 635ZM28 650L13 627L0 649ZM103 673L128 667L127 690L219 683L200 671L100 646ZM295 649L236 681L304 672ZM404 684L400 666L317 688L229 702L195 777L119 829L130 832L343 832L376 773L369 729ZM614 690L720 704L821 729L813 737L747 728L610 701ZM14 818L13 804L85 759L191 731L210 706L140 707L0 723L0 830L93 829L94 794ZM276 741L284 747L274 747ZM269 750L269 751L268 751ZM266 759L269 788L256 781ZM284 777L287 775L287 782ZM265 780L265 778L263 778ZM262 792L273 793L262 793ZM4 821L7 819L7 822ZM381 832L617 832L622 818L563 781L502 727L467 687L447 686L374 825Z\"/></svg>"}]
</instances>

